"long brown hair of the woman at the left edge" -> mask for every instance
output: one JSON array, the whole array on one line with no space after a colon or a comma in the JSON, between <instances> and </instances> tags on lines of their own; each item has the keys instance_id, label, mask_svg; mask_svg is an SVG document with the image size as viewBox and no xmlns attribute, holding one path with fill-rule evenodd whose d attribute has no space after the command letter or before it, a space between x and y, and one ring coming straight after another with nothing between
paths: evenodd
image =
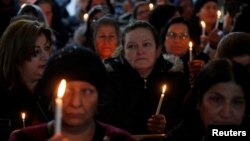
<instances>
[{"instance_id":1,"label":"long brown hair of the woman at the left edge","mask_svg":"<svg viewBox=\"0 0 250 141\"><path fill-rule=\"evenodd\" d=\"M17 67L34 55L35 43L41 34L51 44L51 30L37 21L17 20L6 28L0 42L0 74L7 85L13 86L20 81Z\"/></svg>"}]
</instances>

